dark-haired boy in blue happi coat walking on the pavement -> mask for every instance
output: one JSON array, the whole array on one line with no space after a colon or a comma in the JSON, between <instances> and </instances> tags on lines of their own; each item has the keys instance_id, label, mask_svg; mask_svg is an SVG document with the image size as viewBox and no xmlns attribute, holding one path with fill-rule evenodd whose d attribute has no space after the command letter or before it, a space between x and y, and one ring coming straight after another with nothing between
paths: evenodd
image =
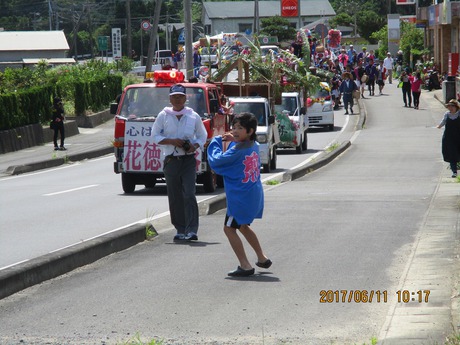
<instances>
[{"instance_id":1,"label":"dark-haired boy in blue happi coat walking on the pavement","mask_svg":"<svg viewBox=\"0 0 460 345\"><path fill-rule=\"evenodd\" d=\"M224 178L227 196L227 215L224 232L240 265L228 273L231 277L254 274L244 251L237 229L243 234L257 255L256 265L269 268L271 260L264 254L257 235L250 228L255 218L262 218L264 192L260 182L259 144L255 142L257 119L251 113L236 115L232 121L232 133L215 137L208 147L211 168ZM224 152L223 141L230 141Z\"/></svg>"}]
</instances>

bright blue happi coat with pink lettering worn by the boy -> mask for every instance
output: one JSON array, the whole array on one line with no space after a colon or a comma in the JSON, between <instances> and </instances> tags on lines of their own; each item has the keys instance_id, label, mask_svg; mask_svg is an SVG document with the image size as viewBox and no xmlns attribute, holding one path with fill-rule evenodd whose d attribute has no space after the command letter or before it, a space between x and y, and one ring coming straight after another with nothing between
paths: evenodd
<instances>
[{"instance_id":1,"label":"bright blue happi coat with pink lettering worn by the boy","mask_svg":"<svg viewBox=\"0 0 460 345\"><path fill-rule=\"evenodd\" d=\"M227 214L238 224L251 224L254 218L262 218L264 191L260 182L259 144L231 142L224 152L222 137L217 136L208 146L208 162L224 178Z\"/></svg>"}]
</instances>

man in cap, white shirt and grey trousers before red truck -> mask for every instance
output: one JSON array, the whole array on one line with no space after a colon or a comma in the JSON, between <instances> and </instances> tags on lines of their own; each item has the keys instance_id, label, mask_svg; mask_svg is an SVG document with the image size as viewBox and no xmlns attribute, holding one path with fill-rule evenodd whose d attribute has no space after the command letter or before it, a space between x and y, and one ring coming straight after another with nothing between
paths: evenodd
<instances>
[{"instance_id":1,"label":"man in cap, white shirt and grey trousers before red truck","mask_svg":"<svg viewBox=\"0 0 460 345\"><path fill-rule=\"evenodd\" d=\"M198 203L195 196L195 151L203 150L207 132L200 116L185 106L186 89L181 84L171 86L169 101L155 119L153 141L163 145L163 173L168 191L171 223L177 230L174 241L198 240Z\"/></svg>"}]
</instances>

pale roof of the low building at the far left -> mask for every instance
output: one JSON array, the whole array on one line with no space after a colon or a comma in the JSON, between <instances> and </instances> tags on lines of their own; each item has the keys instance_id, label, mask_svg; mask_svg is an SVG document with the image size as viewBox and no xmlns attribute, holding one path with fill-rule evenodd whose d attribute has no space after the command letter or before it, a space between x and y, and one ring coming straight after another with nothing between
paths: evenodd
<instances>
[{"instance_id":1,"label":"pale roof of the low building at the far left","mask_svg":"<svg viewBox=\"0 0 460 345\"><path fill-rule=\"evenodd\" d=\"M0 31L0 51L69 50L64 31Z\"/></svg>"}]
</instances>

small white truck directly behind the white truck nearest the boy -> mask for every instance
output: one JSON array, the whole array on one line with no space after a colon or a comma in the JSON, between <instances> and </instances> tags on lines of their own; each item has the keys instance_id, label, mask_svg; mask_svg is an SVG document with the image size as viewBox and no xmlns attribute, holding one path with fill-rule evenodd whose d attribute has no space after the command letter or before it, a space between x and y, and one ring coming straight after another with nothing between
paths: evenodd
<instances>
[{"instance_id":1,"label":"small white truck directly behind the white truck nearest the boy","mask_svg":"<svg viewBox=\"0 0 460 345\"><path fill-rule=\"evenodd\" d=\"M275 105L280 133L279 148L295 148L302 153L308 148L308 117L303 106L303 92L283 92L282 103Z\"/></svg>"}]
</instances>

